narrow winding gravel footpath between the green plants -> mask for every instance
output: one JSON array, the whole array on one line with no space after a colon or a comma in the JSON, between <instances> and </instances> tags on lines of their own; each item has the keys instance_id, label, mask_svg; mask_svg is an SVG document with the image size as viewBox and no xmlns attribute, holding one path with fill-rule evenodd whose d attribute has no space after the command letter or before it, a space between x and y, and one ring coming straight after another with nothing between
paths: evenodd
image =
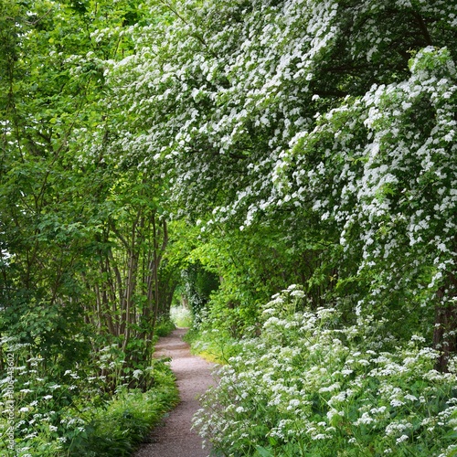
<instances>
[{"instance_id":1,"label":"narrow winding gravel footpath between the green plants","mask_svg":"<svg viewBox=\"0 0 457 457\"><path fill-rule=\"evenodd\" d=\"M189 345L183 340L186 329L178 328L171 335L159 339L155 346L156 356L172 357L181 402L155 428L151 442L143 444L134 457L207 457L209 449L202 450L202 441L190 430L191 420L200 408L197 398L213 384L212 364L201 357L192 356Z\"/></svg>"}]
</instances>

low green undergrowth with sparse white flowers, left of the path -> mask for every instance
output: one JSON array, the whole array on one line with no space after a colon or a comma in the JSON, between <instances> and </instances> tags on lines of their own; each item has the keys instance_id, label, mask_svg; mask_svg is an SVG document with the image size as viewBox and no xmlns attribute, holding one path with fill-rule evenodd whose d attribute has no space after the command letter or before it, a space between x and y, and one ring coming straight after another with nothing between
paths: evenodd
<instances>
[{"instance_id":1,"label":"low green undergrowth with sparse white flowers, left of the path","mask_svg":"<svg viewBox=\"0 0 457 457\"><path fill-rule=\"evenodd\" d=\"M8 377L0 381L2 455L130 455L177 403L175 377L162 361L125 373L122 354L111 346L97 356L98 370L81 366L59 373L42 357L31 356L29 345L3 343L14 363ZM21 366L23 353L28 359ZM115 385L107 388L111 383ZM132 388L135 385L143 390ZM13 421L7 414L10 408ZM5 432L9 427L14 428L14 450Z\"/></svg>"}]
</instances>

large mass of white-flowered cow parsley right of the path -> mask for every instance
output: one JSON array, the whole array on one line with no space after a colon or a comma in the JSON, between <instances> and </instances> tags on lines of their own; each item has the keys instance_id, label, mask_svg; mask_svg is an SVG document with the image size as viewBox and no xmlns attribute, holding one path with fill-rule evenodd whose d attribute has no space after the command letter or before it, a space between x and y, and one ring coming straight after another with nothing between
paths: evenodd
<instances>
[{"instance_id":1,"label":"large mass of white-flowered cow parsley right of the path","mask_svg":"<svg viewBox=\"0 0 457 457\"><path fill-rule=\"evenodd\" d=\"M217 455L453 455L455 357L412 335L385 338L374 316L343 324L310 311L297 286L262 309L261 334L239 345L194 420Z\"/></svg>"}]
</instances>

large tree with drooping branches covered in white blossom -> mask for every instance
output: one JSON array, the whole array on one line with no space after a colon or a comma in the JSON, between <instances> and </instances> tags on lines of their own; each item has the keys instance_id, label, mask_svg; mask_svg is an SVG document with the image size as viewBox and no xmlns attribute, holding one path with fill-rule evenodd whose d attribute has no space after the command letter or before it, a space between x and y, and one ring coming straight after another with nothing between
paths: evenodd
<instances>
[{"instance_id":1,"label":"large tree with drooping branches covered in white blossom","mask_svg":"<svg viewBox=\"0 0 457 457\"><path fill-rule=\"evenodd\" d=\"M295 246L303 231L306 249L332 246L319 255L341 290L356 281L356 311L434 308L443 369L456 324L455 6L154 2L164 20L133 28L135 55L108 72L133 115L116 153L164 166L178 213L204 229L279 218Z\"/></svg>"}]
</instances>

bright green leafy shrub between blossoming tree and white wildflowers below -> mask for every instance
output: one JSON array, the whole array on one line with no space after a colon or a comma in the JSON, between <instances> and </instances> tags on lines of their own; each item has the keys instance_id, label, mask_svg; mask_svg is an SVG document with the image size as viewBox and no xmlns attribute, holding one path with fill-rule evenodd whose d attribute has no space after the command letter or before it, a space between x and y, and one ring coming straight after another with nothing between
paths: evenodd
<instances>
[{"instance_id":1,"label":"bright green leafy shrub between blossoming tree and white wildflowers below","mask_svg":"<svg viewBox=\"0 0 457 457\"><path fill-rule=\"evenodd\" d=\"M245 335L258 322L260 303L285 283L306 284L313 306L332 294L336 282L329 253L335 255L336 249L313 242L297 226L289 227L293 231L284 236L275 223L281 224L281 219L265 219L242 231L219 228L221 236L216 231L215 236L200 239L191 251L190 259L199 260L221 278L204 308L203 329L217 328L233 337Z\"/></svg>"}]
</instances>

